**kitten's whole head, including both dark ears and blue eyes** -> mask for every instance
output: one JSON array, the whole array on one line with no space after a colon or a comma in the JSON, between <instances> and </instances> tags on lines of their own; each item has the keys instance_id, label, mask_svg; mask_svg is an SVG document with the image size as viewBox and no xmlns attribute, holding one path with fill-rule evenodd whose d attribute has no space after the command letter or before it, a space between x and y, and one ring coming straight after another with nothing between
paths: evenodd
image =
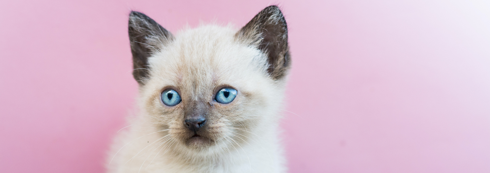
<instances>
[{"instance_id":1,"label":"kitten's whole head, including both dark ears and blue eyes","mask_svg":"<svg viewBox=\"0 0 490 173\"><path fill-rule=\"evenodd\" d=\"M207 25L177 36L133 11L129 38L143 116L178 151L224 151L275 130L290 66L277 6L238 31Z\"/></svg>"}]
</instances>

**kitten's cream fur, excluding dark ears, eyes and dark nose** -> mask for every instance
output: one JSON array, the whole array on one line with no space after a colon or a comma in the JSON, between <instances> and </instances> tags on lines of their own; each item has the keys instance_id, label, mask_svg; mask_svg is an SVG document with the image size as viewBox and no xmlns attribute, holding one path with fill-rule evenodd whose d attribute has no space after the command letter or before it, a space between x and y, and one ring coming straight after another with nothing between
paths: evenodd
<instances>
[{"instance_id":1,"label":"kitten's cream fur, excluding dark ears, eyes and dark nose","mask_svg":"<svg viewBox=\"0 0 490 173\"><path fill-rule=\"evenodd\" d=\"M285 79L267 72L267 54L236 38L231 26L186 29L148 58L149 78L140 86L138 116L118 132L108 157L109 173L284 173L279 139ZM162 89L182 97L175 107L162 104ZM235 100L213 101L230 86ZM211 108L206 124L214 142L185 143L183 107L189 100Z\"/></svg>"}]
</instances>

